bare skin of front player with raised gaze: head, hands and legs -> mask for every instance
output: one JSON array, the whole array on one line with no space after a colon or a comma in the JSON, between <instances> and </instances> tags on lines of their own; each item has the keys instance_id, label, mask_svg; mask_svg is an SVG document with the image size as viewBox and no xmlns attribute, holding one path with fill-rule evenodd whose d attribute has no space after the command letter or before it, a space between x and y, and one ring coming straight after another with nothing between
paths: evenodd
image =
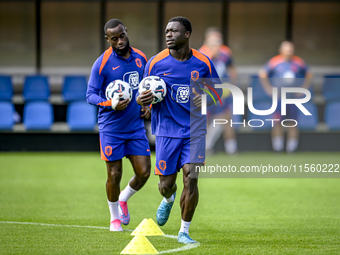
<instances>
[{"instance_id":1,"label":"bare skin of front player with raised gaze: head, hands and legs","mask_svg":"<svg viewBox=\"0 0 340 255\"><path fill-rule=\"evenodd\" d=\"M190 32L180 22L169 22L165 29L166 42L170 54L178 61L186 61L191 58L192 51L189 47ZM201 95L193 88L194 103L201 107ZM140 105L149 105L152 101L152 92L144 91L137 97ZM184 221L191 221L198 203L197 176L190 173L190 169L195 169L196 164L188 163L182 166L183 170L183 191L180 199L181 215ZM177 190L177 172L172 175L159 176L158 189L163 197L169 198Z\"/></svg>"}]
</instances>

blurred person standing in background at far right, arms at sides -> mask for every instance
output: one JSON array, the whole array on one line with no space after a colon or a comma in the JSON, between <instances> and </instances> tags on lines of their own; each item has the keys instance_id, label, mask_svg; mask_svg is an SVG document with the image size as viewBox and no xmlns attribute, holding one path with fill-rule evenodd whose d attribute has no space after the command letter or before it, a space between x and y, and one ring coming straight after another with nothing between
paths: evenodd
<instances>
[{"instance_id":1,"label":"blurred person standing in background at far right, arms at sides","mask_svg":"<svg viewBox=\"0 0 340 255\"><path fill-rule=\"evenodd\" d=\"M261 85L265 92L272 97L272 88L277 87L301 87L309 89L311 86L312 74L308 70L306 63L294 55L294 44L290 41L284 41L279 48L279 55L271 58L267 64L259 71ZM281 115L280 91L278 90L278 105L274 112L273 119L297 119L298 109L293 104L287 104L286 116ZM298 98L301 95L295 94ZM280 122L275 121L272 128L272 146L274 151L283 151L284 149L284 130ZM299 144L298 125L287 129L286 151L294 152Z\"/></svg>"}]
</instances>

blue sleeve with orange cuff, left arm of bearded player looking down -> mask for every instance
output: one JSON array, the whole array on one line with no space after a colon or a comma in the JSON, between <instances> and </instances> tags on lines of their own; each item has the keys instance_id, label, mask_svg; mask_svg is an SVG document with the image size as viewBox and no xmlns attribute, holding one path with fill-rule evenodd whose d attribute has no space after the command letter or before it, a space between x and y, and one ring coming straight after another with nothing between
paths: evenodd
<instances>
[{"instance_id":1,"label":"blue sleeve with orange cuff, left arm of bearded player looking down","mask_svg":"<svg viewBox=\"0 0 340 255\"><path fill-rule=\"evenodd\" d=\"M105 95L102 93L104 76L99 73L100 63L100 58L98 58L92 67L86 91L86 100L92 105L111 108L110 100L106 100Z\"/></svg>"}]
</instances>

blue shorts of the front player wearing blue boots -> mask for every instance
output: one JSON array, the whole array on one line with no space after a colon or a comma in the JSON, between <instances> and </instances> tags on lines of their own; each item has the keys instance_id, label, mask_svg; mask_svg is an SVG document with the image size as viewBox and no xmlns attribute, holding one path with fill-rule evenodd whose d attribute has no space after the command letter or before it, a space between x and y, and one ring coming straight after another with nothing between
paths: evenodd
<instances>
[{"instance_id":1,"label":"blue shorts of the front player wearing blue boots","mask_svg":"<svg viewBox=\"0 0 340 255\"><path fill-rule=\"evenodd\" d=\"M171 175L184 164L205 161L205 135L191 138L156 136L156 175Z\"/></svg>"}]
</instances>

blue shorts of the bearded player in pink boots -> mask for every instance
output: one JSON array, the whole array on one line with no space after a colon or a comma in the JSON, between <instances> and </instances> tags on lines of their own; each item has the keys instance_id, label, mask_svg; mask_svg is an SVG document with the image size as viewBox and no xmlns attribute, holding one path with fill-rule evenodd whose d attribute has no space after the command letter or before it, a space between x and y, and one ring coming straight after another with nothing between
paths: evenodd
<instances>
[{"instance_id":1,"label":"blue shorts of the bearded player in pink boots","mask_svg":"<svg viewBox=\"0 0 340 255\"><path fill-rule=\"evenodd\" d=\"M99 133L100 158L105 161L115 161L128 155L150 156L150 145L145 130L138 130L119 137L118 133Z\"/></svg>"}]
</instances>

